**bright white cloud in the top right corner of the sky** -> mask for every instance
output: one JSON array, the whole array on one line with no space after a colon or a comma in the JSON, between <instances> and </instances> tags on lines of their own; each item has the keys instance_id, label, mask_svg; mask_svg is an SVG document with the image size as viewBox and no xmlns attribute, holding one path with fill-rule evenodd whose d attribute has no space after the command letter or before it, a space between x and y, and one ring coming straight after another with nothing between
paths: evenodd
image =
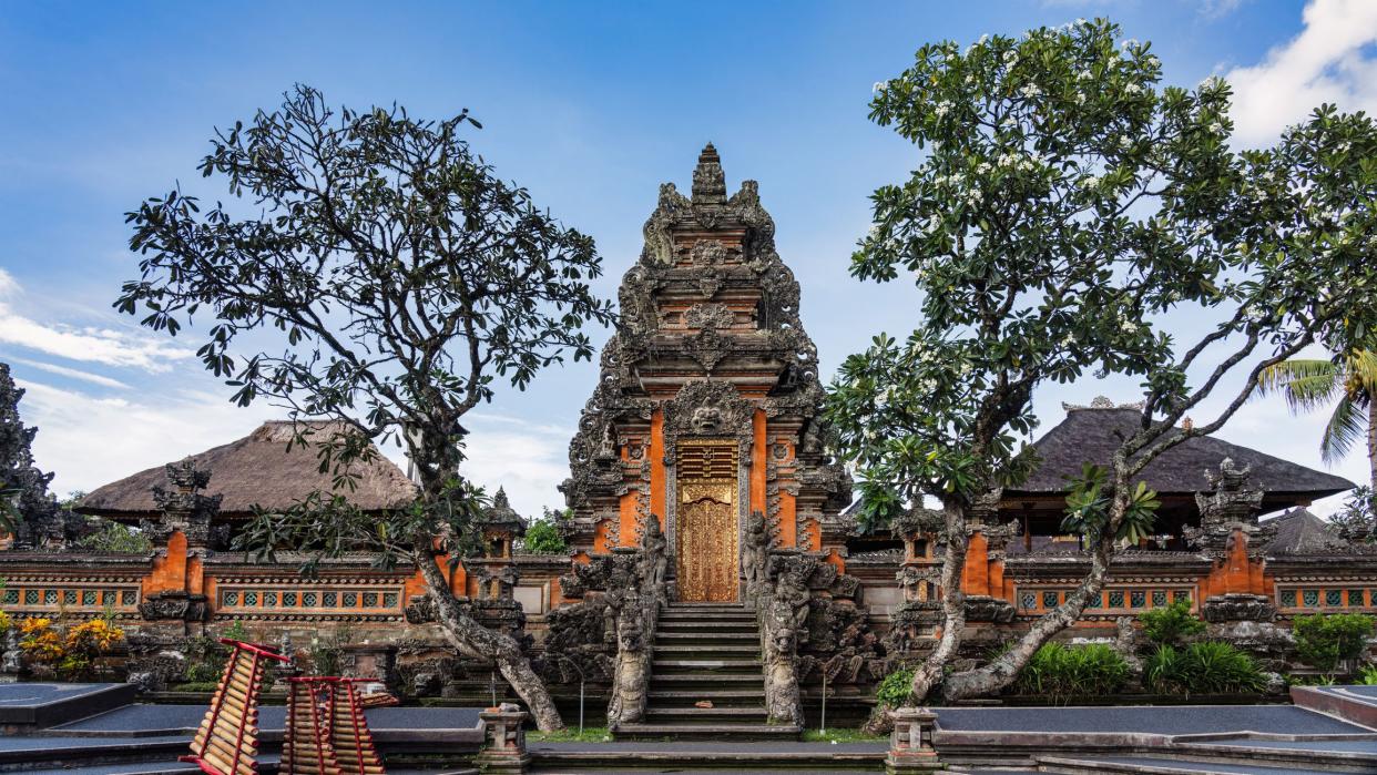
<instances>
[{"instance_id":1,"label":"bright white cloud in the top right corner of the sky","mask_svg":"<svg viewBox=\"0 0 1377 775\"><path fill-rule=\"evenodd\" d=\"M1323 102L1352 113L1377 109L1377 43L1373 0L1312 0L1299 36L1252 67L1224 77L1234 85L1232 118L1246 146L1274 140Z\"/></svg>"}]
</instances>

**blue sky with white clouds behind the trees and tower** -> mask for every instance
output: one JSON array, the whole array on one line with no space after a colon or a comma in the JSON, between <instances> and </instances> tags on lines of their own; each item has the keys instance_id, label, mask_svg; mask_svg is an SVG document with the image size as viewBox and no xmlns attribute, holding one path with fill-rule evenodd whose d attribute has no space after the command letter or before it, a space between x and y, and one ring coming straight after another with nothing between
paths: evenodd
<instances>
[{"instance_id":1,"label":"blue sky with white clouds behind the trees and tower","mask_svg":"<svg viewBox=\"0 0 1377 775\"><path fill-rule=\"evenodd\" d=\"M124 212L180 180L223 197L196 164L216 125L271 107L293 83L336 103L468 107L472 145L500 175L598 240L602 289L640 249L658 183L687 187L702 145L728 184L760 180L779 252L803 285L825 373L884 329L912 328L909 288L852 281L866 195L917 151L866 120L872 84L925 41L1018 34L1107 15L1151 40L1166 78L1235 81L1245 142L1264 143L1329 99L1377 107L1377 3L1212 0L1047 3L245 3L0 6L0 361L29 391L54 489L91 489L229 442L275 413L237 409L191 340L110 310L136 273ZM602 336L599 335L599 339ZM581 363L505 392L474 428L470 475L515 505L559 502L566 446L595 383ZM1038 394L1062 401L1132 385ZM1221 435L1319 465L1321 418L1254 403ZM1360 480L1352 456L1338 474Z\"/></svg>"}]
</instances>

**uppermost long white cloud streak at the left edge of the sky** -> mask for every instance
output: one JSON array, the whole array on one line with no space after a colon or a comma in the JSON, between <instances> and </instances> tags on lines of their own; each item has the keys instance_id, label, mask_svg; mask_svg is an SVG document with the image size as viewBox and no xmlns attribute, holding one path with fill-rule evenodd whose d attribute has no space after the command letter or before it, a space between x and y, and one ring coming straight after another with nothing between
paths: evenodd
<instances>
[{"instance_id":1,"label":"uppermost long white cloud streak at the left edge of the sky","mask_svg":"<svg viewBox=\"0 0 1377 775\"><path fill-rule=\"evenodd\" d=\"M14 275L0 270L0 299L15 297L19 292ZM165 372L171 368L171 362L196 355L193 350L178 347L164 339L127 330L39 322L15 311L6 301L0 301L0 343L72 361L135 366L149 372Z\"/></svg>"}]
</instances>

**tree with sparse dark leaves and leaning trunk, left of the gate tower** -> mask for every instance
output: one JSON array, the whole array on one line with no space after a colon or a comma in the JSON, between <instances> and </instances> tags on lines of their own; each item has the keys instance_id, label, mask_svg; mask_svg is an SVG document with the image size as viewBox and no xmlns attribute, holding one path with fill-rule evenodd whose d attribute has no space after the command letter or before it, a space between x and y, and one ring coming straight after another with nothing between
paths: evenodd
<instances>
[{"instance_id":1,"label":"tree with sparse dark leaves and leaning trunk, left of the gate tower","mask_svg":"<svg viewBox=\"0 0 1377 775\"><path fill-rule=\"evenodd\" d=\"M397 106L336 112L296 87L273 113L216 131L200 165L252 202L240 208L249 215L220 202L202 212L179 190L128 213L142 277L116 307L169 335L209 312L205 368L240 405L336 421L314 435L300 424L295 442L314 445L340 486L350 463L376 454L370 440L401 443L419 478L410 508L377 519L319 496L260 515L241 545L317 559L369 546L413 562L448 640L496 662L549 730L559 713L518 643L464 613L437 556L460 562L482 501L459 472L460 420L500 377L523 390L570 354L591 358L581 328L613 311L588 285L602 273L592 238L497 179L465 125L479 128L467 110L439 121Z\"/></svg>"}]
</instances>

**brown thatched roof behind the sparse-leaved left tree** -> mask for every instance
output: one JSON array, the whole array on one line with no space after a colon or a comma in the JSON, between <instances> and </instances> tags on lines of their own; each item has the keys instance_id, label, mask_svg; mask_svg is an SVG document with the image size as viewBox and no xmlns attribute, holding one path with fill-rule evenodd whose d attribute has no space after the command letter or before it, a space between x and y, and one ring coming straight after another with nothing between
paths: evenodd
<instances>
[{"instance_id":1,"label":"brown thatched roof behind the sparse-leaved left tree","mask_svg":"<svg viewBox=\"0 0 1377 775\"><path fill-rule=\"evenodd\" d=\"M330 423L307 425L321 439L336 427ZM291 421L263 423L237 442L191 456L197 468L211 472L205 494L223 496L220 515L248 516L255 505L267 509L286 508L315 490L333 490L332 474L319 471L314 442L307 442L304 447L293 446L288 452L292 435ZM355 489L341 489L339 493L359 508L395 508L416 497L416 487L406 474L383 457L381 452L369 463L355 463L354 468L359 474ZM172 489L165 467L149 468L105 485L83 498L76 511L116 519L157 513L153 487Z\"/></svg>"}]
</instances>

